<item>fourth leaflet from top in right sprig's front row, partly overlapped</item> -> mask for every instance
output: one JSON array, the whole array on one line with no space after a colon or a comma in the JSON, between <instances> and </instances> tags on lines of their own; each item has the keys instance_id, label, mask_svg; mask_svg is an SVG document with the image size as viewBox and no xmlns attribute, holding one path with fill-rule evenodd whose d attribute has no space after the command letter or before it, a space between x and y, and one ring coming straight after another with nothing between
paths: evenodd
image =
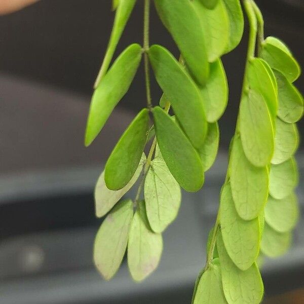
<instances>
[{"instance_id":1,"label":"fourth leaflet from top in right sprig's front row, partly overlapped","mask_svg":"<svg viewBox=\"0 0 304 304\"><path fill-rule=\"evenodd\" d=\"M222 188L219 212L221 234L227 253L239 269L249 269L259 251L258 219L247 221L239 217L230 184L225 184Z\"/></svg>"}]
</instances>

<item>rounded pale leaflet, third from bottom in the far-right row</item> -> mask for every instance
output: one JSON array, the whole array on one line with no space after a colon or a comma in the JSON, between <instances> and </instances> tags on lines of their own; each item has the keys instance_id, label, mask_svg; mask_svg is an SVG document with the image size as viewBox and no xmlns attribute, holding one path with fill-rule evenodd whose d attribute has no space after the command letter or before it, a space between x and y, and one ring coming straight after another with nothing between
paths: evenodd
<instances>
[{"instance_id":1,"label":"rounded pale leaflet, third from bottom in the far-right row","mask_svg":"<svg viewBox=\"0 0 304 304\"><path fill-rule=\"evenodd\" d=\"M298 182L294 158L279 165L271 165L269 181L269 193L273 198L281 200L289 196Z\"/></svg>"}]
</instances>

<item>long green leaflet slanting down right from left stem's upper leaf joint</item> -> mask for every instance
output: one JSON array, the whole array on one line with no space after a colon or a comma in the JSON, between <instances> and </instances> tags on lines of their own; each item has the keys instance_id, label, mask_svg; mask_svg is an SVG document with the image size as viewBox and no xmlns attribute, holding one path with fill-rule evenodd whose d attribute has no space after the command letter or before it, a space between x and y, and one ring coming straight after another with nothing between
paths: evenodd
<instances>
[{"instance_id":1,"label":"long green leaflet slanting down right from left stem's upper leaf joint","mask_svg":"<svg viewBox=\"0 0 304 304\"><path fill-rule=\"evenodd\" d=\"M156 79L170 100L178 122L192 144L196 148L201 147L208 126L198 87L165 48L158 45L151 46L148 54Z\"/></svg>"}]
</instances>

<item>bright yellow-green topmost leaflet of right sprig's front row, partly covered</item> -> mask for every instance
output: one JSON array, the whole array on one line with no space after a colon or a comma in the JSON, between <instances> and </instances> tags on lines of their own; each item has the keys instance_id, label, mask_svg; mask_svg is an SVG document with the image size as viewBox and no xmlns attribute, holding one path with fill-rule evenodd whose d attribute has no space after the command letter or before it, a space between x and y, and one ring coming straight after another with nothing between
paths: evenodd
<instances>
[{"instance_id":1,"label":"bright yellow-green topmost leaflet of right sprig's front row, partly covered","mask_svg":"<svg viewBox=\"0 0 304 304\"><path fill-rule=\"evenodd\" d=\"M247 71L248 84L251 89L264 97L272 118L275 119L278 111L277 91L269 73L271 68L267 68L265 65L267 63L259 58L249 61Z\"/></svg>"}]
</instances>

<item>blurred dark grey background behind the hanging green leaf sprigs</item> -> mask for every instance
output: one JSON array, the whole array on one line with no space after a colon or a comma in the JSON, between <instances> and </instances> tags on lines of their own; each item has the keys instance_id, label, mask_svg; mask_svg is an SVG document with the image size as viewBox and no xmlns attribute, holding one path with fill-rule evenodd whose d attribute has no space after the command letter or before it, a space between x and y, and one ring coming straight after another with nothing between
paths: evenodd
<instances>
[{"instance_id":1,"label":"blurred dark grey background behind the hanging green leaf sprigs","mask_svg":"<svg viewBox=\"0 0 304 304\"><path fill-rule=\"evenodd\" d=\"M117 54L142 41L138 1ZM304 66L304 2L257 1L265 34L280 37ZM143 67L98 138L83 145L92 86L114 14L110 0L43 0L0 17L0 303L189 303L205 263L205 244L218 207L227 146L239 105L247 30L241 45L223 57L230 101L220 120L220 153L200 193L184 194L177 220L164 234L158 270L141 284L125 262L111 282L92 263L101 219L93 188L125 127L145 105ZM151 12L151 43L178 51ZM296 85L304 92L303 77ZM154 104L161 91L153 80ZM299 123L303 137L304 120ZM303 184L303 144L297 155ZM298 189L304 215L304 189ZM133 197L134 193L130 193ZM294 245L263 268L264 303L304 303L304 221Z\"/></svg>"}]
</instances>

